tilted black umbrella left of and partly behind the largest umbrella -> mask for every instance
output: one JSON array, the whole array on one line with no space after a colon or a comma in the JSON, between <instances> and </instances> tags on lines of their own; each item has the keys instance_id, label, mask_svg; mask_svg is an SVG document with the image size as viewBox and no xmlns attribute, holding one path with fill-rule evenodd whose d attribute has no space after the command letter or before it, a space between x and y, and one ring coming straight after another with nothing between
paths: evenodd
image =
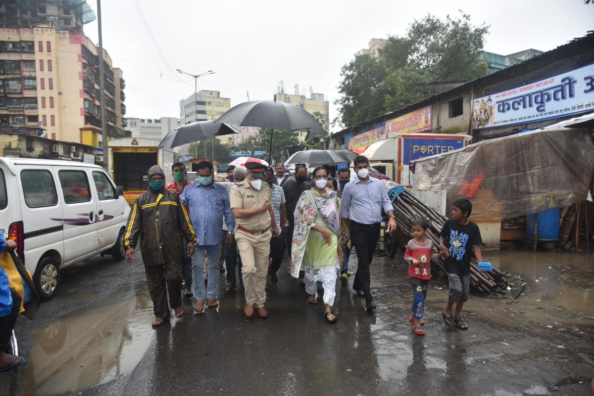
<instances>
[{"instance_id":1,"label":"tilted black umbrella left of and partly behind the largest umbrella","mask_svg":"<svg viewBox=\"0 0 594 396\"><path fill-rule=\"evenodd\" d=\"M157 150L182 146L230 133L239 133L239 131L228 124L215 121L193 122L170 130L165 138L161 139Z\"/></svg>"}]
</instances>

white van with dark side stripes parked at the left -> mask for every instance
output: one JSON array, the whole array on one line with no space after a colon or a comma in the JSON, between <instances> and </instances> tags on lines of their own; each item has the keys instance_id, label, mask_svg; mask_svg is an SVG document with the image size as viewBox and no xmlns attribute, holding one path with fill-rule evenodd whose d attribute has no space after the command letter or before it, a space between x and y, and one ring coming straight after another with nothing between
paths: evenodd
<instances>
[{"instance_id":1,"label":"white van with dark side stripes parked at the left","mask_svg":"<svg viewBox=\"0 0 594 396\"><path fill-rule=\"evenodd\" d=\"M98 253L124 258L130 207L118 190L98 165L0 157L0 231L17 242L43 300L62 267Z\"/></svg>"}]
</instances>

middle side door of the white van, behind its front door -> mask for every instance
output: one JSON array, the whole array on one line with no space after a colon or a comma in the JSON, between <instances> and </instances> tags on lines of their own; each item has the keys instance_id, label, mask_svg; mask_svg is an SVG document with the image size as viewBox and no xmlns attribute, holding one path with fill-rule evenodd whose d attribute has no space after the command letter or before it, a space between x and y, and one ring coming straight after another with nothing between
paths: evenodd
<instances>
[{"instance_id":1,"label":"middle side door of the white van, behind its front door","mask_svg":"<svg viewBox=\"0 0 594 396\"><path fill-rule=\"evenodd\" d=\"M97 200L87 168L53 167L64 217L64 263L97 253Z\"/></svg>"}]
</instances>

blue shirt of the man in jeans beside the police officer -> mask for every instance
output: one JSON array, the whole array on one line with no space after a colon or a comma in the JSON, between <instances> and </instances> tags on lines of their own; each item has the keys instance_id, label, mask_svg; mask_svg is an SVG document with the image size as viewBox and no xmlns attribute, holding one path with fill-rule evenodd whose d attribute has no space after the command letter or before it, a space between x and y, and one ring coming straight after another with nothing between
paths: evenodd
<instances>
[{"instance_id":1,"label":"blue shirt of the man in jeans beside the police officer","mask_svg":"<svg viewBox=\"0 0 594 396\"><path fill-rule=\"evenodd\" d=\"M208 188L200 183L190 184L179 199L189 207L189 218L198 245L216 245L221 241L223 216L227 228L235 229L229 194L220 184L214 183Z\"/></svg>"}]
</instances>

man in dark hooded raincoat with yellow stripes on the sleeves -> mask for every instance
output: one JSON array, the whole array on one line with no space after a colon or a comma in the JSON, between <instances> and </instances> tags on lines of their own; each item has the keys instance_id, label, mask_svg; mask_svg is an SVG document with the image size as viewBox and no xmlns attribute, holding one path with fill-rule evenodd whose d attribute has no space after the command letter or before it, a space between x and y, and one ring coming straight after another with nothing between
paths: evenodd
<instances>
[{"instance_id":1,"label":"man in dark hooded raincoat with yellow stripes on the sleeves","mask_svg":"<svg viewBox=\"0 0 594 396\"><path fill-rule=\"evenodd\" d=\"M153 300L153 327L157 327L170 317L168 293L169 305L175 310L175 315L181 317L184 314L181 299L181 238L183 236L188 241L186 254L189 257L194 254L196 235L179 196L165 190L163 170L153 165L147 180L149 189L140 194L132 205L124 244L127 248L126 260L131 263L140 237L144 271Z\"/></svg>"}]
</instances>

